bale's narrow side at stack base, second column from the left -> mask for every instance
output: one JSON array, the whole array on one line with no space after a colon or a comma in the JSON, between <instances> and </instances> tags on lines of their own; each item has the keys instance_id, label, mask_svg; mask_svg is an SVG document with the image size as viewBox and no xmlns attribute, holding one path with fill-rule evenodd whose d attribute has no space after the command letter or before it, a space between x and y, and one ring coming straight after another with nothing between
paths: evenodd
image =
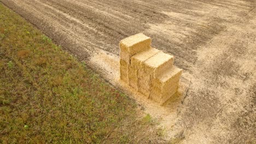
<instances>
[{"instance_id":1,"label":"bale's narrow side at stack base, second column from the left","mask_svg":"<svg viewBox=\"0 0 256 144\"><path fill-rule=\"evenodd\" d=\"M138 91L138 70L131 65L128 67L129 85Z\"/></svg>"}]
</instances>

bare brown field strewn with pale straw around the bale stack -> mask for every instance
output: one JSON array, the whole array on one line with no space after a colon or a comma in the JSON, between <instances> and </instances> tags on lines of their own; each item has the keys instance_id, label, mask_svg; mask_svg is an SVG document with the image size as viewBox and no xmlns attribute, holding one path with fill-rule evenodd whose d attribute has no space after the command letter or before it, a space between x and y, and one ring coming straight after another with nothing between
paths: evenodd
<instances>
[{"instance_id":1,"label":"bare brown field strewn with pale straw around the bale stack","mask_svg":"<svg viewBox=\"0 0 256 144\"><path fill-rule=\"evenodd\" d=\"M118 81L119 41L143 32L184 69L164 106L127 90L182 143L256 142L256 1L0 0Z\"/></svg>"}]
</instances>

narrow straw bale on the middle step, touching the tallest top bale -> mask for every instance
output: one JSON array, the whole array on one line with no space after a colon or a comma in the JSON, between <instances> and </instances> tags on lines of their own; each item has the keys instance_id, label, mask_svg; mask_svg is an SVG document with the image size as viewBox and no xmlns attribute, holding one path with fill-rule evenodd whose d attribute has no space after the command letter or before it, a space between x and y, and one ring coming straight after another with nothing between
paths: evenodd
<instances>
[{"instance_id":1,"label":"narrow straw bale on the middle step, touching the tallest top bale","mask_svg":"<svg viewBox=\"0 0 256 144\"><path fill-rule=\"evenodd\" d=\"M149 50L142 51L137 53L136 55L131 57L131 65L132 67L135 67L137 69L142 69L142 63L144 61L147 61L150 57L156 55L156 53L159 53L160 50L155 48L150 48Z\"/></svg>"}]
</instances>

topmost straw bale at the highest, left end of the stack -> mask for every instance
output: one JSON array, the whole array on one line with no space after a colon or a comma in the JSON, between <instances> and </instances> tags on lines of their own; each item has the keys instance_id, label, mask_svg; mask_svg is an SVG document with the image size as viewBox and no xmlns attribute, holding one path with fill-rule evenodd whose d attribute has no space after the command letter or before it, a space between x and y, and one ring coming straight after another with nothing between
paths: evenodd
<instances>
[{"instance_id":1,"label":"topmost straw bale at the highest, left end of the stack","mask_svg":"<svg viewBox=\"0 0 256 144\"><path fill-rule=\"evenodd\" d=\"M130 64L131 56L150 49L151 38L143 33L132 35L120 41L120 58Z\"/></svg>"}]
</instances>

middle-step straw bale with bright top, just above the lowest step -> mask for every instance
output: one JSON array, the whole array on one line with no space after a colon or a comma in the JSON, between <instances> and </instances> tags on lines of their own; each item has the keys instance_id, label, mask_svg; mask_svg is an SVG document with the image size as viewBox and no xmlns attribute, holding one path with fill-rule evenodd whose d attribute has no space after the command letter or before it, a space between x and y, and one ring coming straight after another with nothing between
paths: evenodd
<instances>
[{"instance_id":1,"label":"middle-step straw bale with bright top, just above the lowest step","mask_svg":"<svg viewBox=\"0 0 256 144\"><path fill-rule=\"evenodd\" d=\"M154 78L165 73L168 69L172 68L174 57L164 52L156 53L144 62L143 69L146 73L153 75Z\"/></svg>"}]
</instances>

